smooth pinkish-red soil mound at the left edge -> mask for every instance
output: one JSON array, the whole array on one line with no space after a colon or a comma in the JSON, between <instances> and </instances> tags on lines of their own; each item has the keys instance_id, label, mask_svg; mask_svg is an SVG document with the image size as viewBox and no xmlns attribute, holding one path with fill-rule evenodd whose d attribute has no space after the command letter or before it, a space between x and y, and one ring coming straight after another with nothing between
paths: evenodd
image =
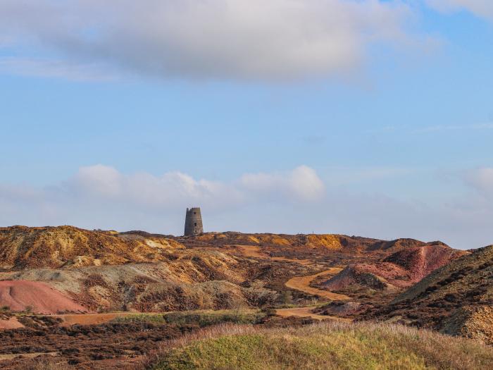
<instances>
[{"instance_id":1,"label":"smooth pinkish-red soil mound at the left edge","mask_svg":"<svg viewBox=\"0 0 493 370\"><path fill-rule=\"evenodd\" d=\"M36 314L87 312L49 285L23 280L0 281L0 306L9 307L11 311L25 311L30 307Z\"/></svg>"}]
</instances>

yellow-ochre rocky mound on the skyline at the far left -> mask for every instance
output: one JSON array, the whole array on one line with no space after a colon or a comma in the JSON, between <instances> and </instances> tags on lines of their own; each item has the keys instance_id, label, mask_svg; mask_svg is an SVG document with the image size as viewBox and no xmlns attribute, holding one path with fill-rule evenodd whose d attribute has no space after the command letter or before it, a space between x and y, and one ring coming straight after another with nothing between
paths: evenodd
<instances>
[{"instance_id":1,"label":"yellow-ochre rocky mound on the skyline at the far left","mask_svg":"<svg viewBox=\"0 0 493 370\"><path fill-rule=\"evenodd\" d=\"M166 253L184 248L154 235L89 231L73 226L0 228L0 267L79 267L166 260Z\"/></svg>"}]
</instances>

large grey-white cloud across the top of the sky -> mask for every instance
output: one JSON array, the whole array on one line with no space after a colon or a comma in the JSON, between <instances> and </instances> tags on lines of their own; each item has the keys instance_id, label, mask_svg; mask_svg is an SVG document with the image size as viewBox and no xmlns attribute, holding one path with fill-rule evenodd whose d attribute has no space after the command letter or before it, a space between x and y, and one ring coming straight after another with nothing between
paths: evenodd
<instances>
[{"instance_id":1,"label":"large grey-white cloud across the top of the sky","mask_svg":"<svg viewBox=\"0 0 493 370\"><path fill-rule=\"evenodd\" d=\"M1 0L0 38L159 78L291 80L405 43L410 15L399 0Z\"/></svg>"}]
</instances>

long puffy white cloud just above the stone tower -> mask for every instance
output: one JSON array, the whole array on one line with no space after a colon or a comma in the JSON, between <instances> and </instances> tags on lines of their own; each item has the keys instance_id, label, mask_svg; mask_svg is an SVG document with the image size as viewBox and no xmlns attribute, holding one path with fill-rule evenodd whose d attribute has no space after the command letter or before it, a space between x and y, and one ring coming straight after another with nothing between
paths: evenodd
<instances>
[{"instance_id":1,"label":"long puffy white cloud just above the stone tower","mask_svg":"<svg viewBox=\"0 0 493 370\"><path fill-rule=\"evenodd\" d=\"M124 175L98 164L82 167L60 185L63 193L88 199L111 199L143 208L183 207L192 203L213 208L275 199L276 202L309 202L323 197L324 185L316 171L299 166L285 173L242 175L232 183L196 180L181 172L161 176L149 173Z\"/></svg>"}]
</instances>

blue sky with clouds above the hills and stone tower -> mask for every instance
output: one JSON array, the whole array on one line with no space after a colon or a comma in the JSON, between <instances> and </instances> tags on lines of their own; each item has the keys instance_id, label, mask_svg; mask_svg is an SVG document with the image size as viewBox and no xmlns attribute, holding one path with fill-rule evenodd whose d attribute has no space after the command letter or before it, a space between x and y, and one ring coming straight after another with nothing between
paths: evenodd
<instances>
[{"instance_id":1,"label":"blue sky with clouds above the hills and stone tower","mask_svg":"<svg viewBox=\"0 0 493 370\"><path fill-rule=\"evenodd\" d=\"M0 0L0 226L493 244L490 0Z\"/></svg>"}]
</instances>

